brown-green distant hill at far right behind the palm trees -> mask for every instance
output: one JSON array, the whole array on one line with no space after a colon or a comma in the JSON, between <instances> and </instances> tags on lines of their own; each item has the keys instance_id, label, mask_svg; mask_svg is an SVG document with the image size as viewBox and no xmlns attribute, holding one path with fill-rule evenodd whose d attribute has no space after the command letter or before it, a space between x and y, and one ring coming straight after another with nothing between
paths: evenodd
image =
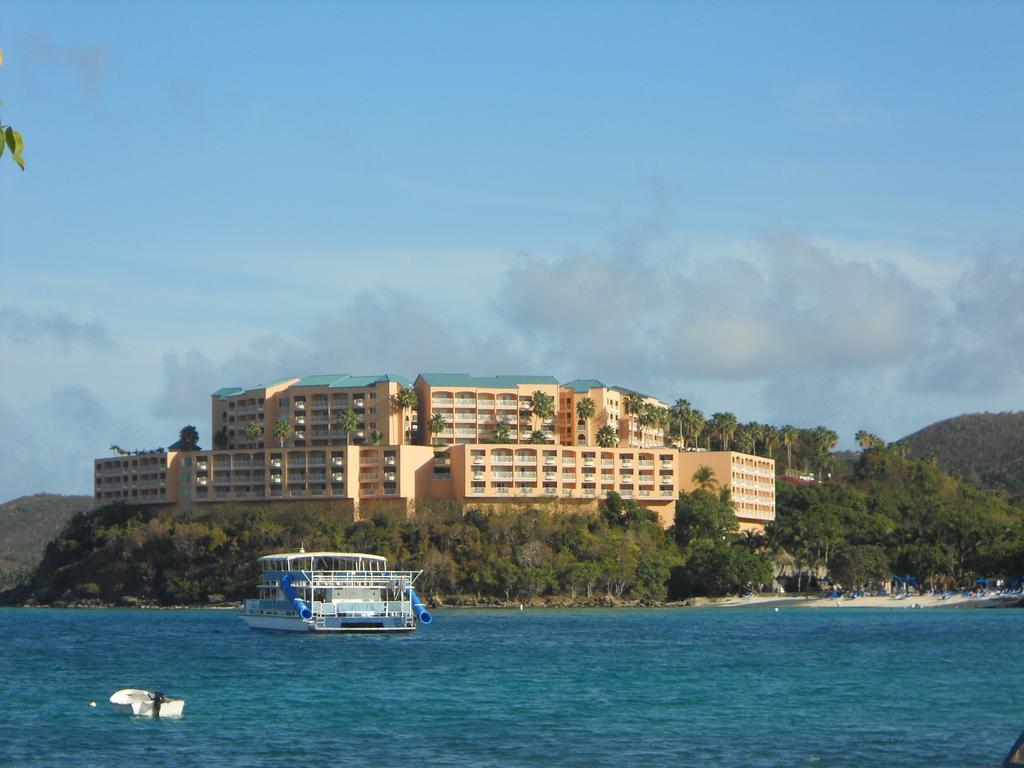
<instances>
[{"instance_id":1,"label":"brown-green distant hill at far right behind the palm trees","mask_svg":"<svg viewBox=\"0 0 1024 768\"><path fill-rule=\"evenodd\" d=\"M903 438L910 457L934 454L939 467L968 482L1024 502L1024 412L965 414Z\"/></svg>"}]
</instances>

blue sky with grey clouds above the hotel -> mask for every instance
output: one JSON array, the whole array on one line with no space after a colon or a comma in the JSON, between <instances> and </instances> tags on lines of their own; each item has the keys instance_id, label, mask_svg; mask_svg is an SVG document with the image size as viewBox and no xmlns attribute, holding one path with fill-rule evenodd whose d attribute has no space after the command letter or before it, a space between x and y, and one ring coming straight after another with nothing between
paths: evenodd
<instances>
[{"instance_id":1,"label":"blue sky with grey clouds above the hotel","mask_svg":"<svg viewBox=\"0 0 1024 768\"><path fill-rule=\"evenodd\" d=\"M0 498L291 374L596 377L844 445L1019 410L1022 24L8 3Z\"/></svg>"}]
</instances>

